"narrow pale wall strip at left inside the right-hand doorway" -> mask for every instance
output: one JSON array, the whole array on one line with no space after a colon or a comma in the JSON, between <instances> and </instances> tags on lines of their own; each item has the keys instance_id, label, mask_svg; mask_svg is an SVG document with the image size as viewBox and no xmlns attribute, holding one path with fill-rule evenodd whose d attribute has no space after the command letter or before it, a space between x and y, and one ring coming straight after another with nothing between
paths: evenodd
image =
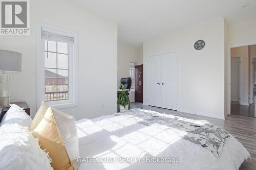
<instances>
[{"instance_id":1,"label":"narrow pale wall strip at left inside the right-hand doorway","mask_svg":"<svg viewBox=\"0 0 256 170\"><path fill-rule=\"evenodd\" d=\"M239 60L240 57L231 58L231 101L239 102Z\"/></svg>"}]
</instances>

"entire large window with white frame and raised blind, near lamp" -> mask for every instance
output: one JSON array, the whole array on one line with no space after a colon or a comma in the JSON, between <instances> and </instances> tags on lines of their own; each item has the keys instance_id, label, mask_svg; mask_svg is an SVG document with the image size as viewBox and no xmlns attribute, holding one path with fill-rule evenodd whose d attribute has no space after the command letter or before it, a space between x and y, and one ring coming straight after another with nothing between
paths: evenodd
<instances>
[{"instance_id":1,"label":"entire large window with white frame and raised blind, near lamp","mask_svg":"<svg viewBox=\"0 0 256 170\"><path fill-rule=\"evenodd\" d=\"M37 35L37 107L77 106L77 35L39 24Z\"/></svg>"}]
</instances>

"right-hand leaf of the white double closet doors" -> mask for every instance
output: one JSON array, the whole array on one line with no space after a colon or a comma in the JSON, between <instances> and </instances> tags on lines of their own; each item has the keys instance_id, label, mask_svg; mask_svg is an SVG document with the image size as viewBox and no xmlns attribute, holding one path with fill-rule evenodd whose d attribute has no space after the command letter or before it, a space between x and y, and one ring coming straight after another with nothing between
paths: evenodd
<instances>
[{"instance_id":1,"label":"right-hand leaf of the white double closet doors","mask_svg":"<svg viewBox=\"0 0 256 170\"><path fill-rule=\"evenodd\" d=\"M177 110L177 53L161 56L161 107Z\"/></svg>"}]
</instances>

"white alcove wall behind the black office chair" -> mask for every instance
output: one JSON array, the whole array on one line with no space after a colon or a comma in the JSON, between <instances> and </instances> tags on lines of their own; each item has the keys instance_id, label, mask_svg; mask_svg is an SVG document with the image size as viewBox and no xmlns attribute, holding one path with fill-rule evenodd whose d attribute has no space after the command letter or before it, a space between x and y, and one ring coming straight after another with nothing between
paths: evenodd
<instances>
[{"instance_id":1,"label":"white alcove wall behind the black office chair","mask_svg":"<svg viewBox=\"0 0 256 170\"><path fill-rule=\"evenodd\" d=\"M127 45L122 42L118 42L117 52L117 87L120 85L120 79L124 77L130 77L129 64L130 61L142 64L141 48ZM130 102L134 102L134 90L130 91L129 95Z\"/></svg>"}]
</instances>

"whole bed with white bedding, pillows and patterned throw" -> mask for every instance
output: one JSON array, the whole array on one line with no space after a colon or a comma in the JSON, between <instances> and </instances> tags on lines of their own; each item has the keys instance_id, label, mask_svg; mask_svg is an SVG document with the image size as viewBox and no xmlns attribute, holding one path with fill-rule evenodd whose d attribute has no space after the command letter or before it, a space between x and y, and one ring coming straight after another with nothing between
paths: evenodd
<instances>
[{"instance_id":1,"label":"whole bed with white bedding, pillows and patterned throw","mask_svg":"<svg viewBox=\"0 0 256 170\"><path fill-rule=\"evenodd\" d=\"M0 169L10 170L234 170L250 158L236 138L206 120L132 109L75 121L44 102L33 120L12 105L0 143Z\"/></svg>"}]
</instances>

